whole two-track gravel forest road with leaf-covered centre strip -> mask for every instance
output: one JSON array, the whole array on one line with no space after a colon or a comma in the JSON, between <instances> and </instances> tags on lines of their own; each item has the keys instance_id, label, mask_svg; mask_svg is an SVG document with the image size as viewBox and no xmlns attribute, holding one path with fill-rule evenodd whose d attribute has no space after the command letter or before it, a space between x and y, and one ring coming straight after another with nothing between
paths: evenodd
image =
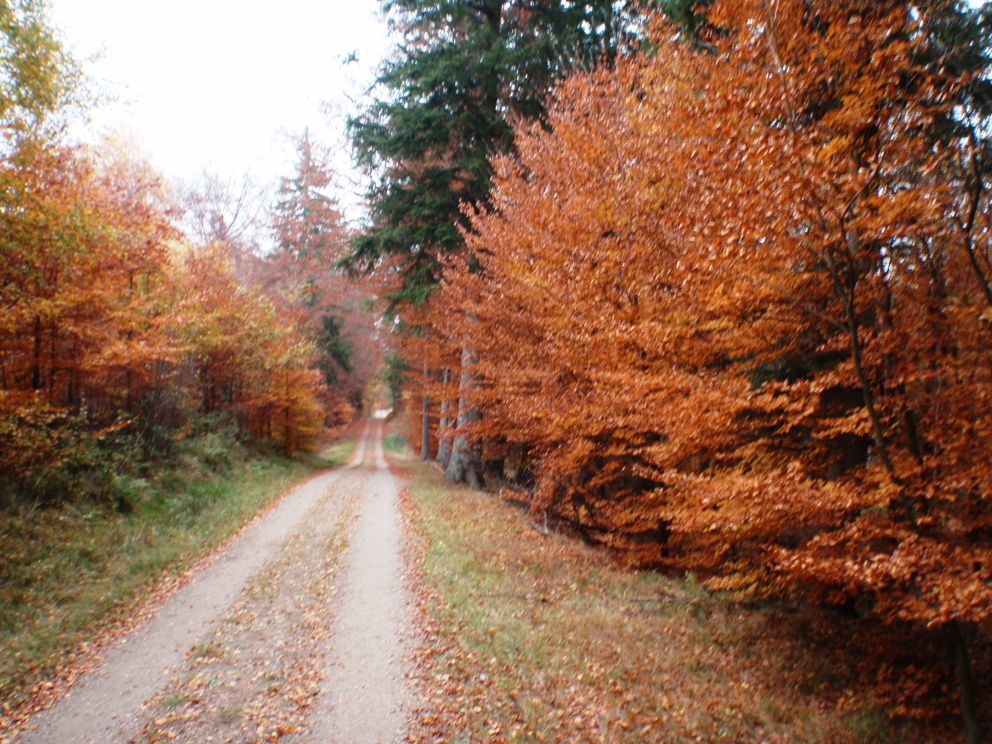
<instances>
[{"instance_id":1,"label":"whole two-track gravel forest road with leaf-covered centre strip","mask_svg":"<svg viewBox=\"0 0 992 744\"><path fill-rule=\"evenodd\" d=\"M348 465L297 486L12 741L403 740L398 491L369 422Z\"/></svg>"}]
</instances>

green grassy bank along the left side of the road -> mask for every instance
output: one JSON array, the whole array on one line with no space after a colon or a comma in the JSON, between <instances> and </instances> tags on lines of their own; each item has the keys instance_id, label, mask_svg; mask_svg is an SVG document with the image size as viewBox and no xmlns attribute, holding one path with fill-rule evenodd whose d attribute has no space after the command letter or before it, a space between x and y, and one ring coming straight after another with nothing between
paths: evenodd
<instances>
[{"instance_id":1,"label":"green grassy bank along the left side of the road","mask_svg":"<svg viewBox=\"0 0 992 744\"><path fill-rule=\"evenodd\" d=\"M289 459L208 435L153 476L118 476L127 514L86 499L0 514L0 718L43 695L139 600L353 447Z\"/></svg>"}]
</instances>

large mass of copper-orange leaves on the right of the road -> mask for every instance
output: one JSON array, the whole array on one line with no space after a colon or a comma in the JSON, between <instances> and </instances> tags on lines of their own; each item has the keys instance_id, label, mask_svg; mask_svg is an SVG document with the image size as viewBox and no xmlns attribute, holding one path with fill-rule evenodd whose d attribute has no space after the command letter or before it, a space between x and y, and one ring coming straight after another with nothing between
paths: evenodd
<instances>
[{"instance_id":1,"label":"large mass of copper-orange leaves on the right of the road","mask_svg":"<svg viewBox=\"0 0 992 744\"><path fill-rule=\"evenodd\" d=\"M989 616L988 203L920 12L718 3L711 51L659 26L497 161L435 312L535 508L718 586Z\"/></svg>"}]
</instances>

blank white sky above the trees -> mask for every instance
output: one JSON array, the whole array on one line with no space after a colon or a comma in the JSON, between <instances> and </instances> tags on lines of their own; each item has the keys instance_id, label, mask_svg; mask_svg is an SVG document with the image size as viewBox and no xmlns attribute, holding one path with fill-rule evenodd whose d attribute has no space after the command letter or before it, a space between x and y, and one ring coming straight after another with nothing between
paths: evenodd
<instances>
[{"instance_id":1,"label":"blank white sky above the trees","mask_svg":"<svg viewBox=\"0 0 992 744\"><path fill-rule=\"evenodd\" d=\"M350 162L347 97L390 46L378 11L378 0L52 0L50 17L77 58L103 50L87 71L117 101L95 129L129 132L169 177L250 170L272 182L291 174L287 133L305 126Z\"/></svg>"}]
</instances>

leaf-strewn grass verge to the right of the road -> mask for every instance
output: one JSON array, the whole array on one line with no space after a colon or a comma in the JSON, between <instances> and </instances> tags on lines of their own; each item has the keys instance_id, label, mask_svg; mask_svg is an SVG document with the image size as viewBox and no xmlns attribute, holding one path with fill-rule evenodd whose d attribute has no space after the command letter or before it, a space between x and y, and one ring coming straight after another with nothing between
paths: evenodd
<instances>
[{"instance_id":1,"label":"leaf-strewn grass verge to the right of the road","mask_svg":"<svg viewBox=\"0 0 992 744\"><path fill-rule=\"evenodd\" d=\"M836 613L743 606L691 575L631 571L409 452L390 459L409 478L427 628L414 741L960 739L953 718L884 714L852 659L873 641L828 638L855 627Z\"/></svg>"}]
</instances>

